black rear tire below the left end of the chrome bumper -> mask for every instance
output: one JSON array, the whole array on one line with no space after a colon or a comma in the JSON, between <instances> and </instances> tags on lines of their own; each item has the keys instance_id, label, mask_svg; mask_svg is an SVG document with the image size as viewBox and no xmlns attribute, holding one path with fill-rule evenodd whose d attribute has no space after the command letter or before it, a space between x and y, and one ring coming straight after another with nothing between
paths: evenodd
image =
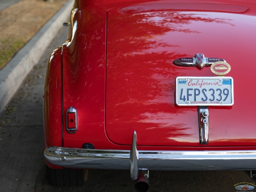
<instances>
[{"instance_id":1,"label":"black rear tire below the left end of the chrome bumper","mask_svg":"<svg viewBox=\"0 0 256 192\"><path fill-rule=\"evenodd\" d=\"M79 186L86 182L88 169L51 169L46 166L46 177L53 186Z\"/></svg>"}]
</instances>

